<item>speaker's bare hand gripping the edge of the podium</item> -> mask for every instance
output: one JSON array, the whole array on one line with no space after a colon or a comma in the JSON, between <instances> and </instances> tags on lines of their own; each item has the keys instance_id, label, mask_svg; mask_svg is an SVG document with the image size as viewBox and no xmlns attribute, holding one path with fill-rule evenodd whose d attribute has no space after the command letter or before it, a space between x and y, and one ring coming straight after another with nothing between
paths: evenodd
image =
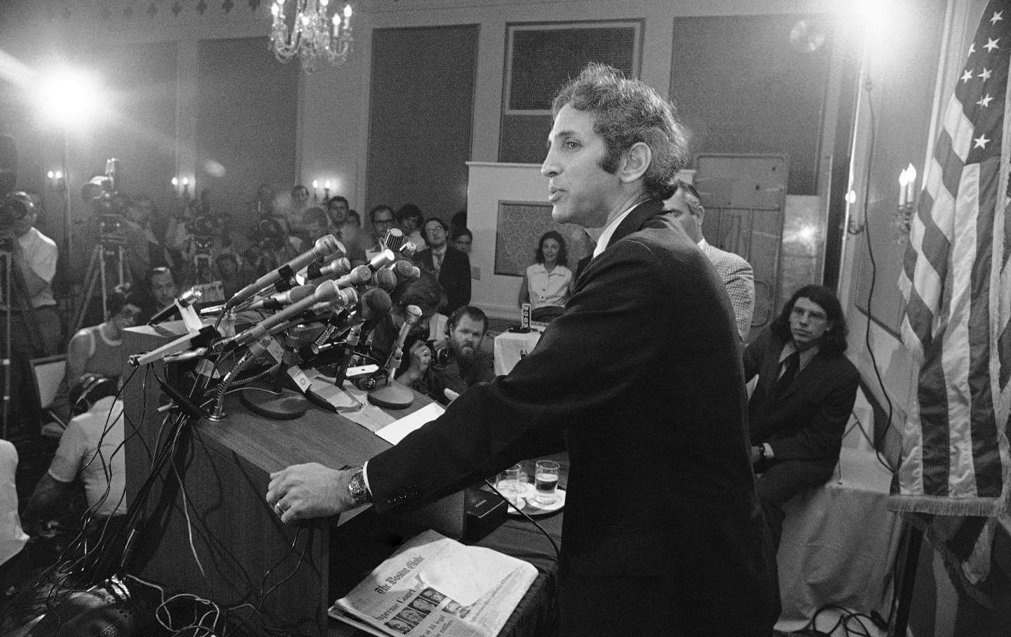
<instances>
[{"instance_id":1,"label":"speaker's bare hand gripping the edge of the podium","mask_svg":"<svg viewBox=\"0 0 1011 637\"><path fill-rule=\"evenodd\" d=\"M348 488L353 473L318 462L293 464L270 474L267 504L285 523L342 514L357 507Z\"/></svg>"}]
</instances>

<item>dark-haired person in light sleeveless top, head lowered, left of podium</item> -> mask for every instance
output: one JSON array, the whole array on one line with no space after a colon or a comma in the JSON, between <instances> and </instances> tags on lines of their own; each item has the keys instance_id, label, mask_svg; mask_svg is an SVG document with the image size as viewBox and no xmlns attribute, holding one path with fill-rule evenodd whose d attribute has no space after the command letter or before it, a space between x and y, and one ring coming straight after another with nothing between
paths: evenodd
<instances>
[{"instance_id":1,"label":"dark-haired person in light sleeveless top, head lowered, left of podium","mask_svg":"<svg viewBox=\"0 0 1011 637\"><path fill-rule=\"evenodd\" d=\"M122 333L136 323L141 307L133 303L128 286L116 287L105 301L108 315L104 323L84 328L67 347L66 378L80 378L85 373L118 378L126 362Z\"/></svg>"}]
</instances>

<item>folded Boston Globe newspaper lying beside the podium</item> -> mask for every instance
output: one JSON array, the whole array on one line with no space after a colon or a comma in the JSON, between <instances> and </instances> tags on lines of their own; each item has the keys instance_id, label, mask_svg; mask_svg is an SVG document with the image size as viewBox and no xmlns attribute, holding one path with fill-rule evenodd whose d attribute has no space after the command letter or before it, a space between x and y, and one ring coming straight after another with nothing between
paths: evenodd
<instances>
[{"instance_id":1,"label":"folded Boston Globe newspaper lying beside the podium","mask_svg":"<svg viewBox=\"0 0 1011 637\"><path fill-rule=\"evenodd\" d=\"M330 616L380 637L494 637L537 578L537 569L435 531L379 564Z\"/></svg>"}]
</instances>

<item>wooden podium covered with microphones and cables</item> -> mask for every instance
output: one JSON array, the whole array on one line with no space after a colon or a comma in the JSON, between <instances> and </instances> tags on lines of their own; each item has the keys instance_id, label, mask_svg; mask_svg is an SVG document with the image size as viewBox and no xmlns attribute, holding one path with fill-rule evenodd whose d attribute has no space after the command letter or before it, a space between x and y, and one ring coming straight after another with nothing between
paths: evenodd
<instances>
[{"instance_id":1,"label":"wooden podium covered with microphones and cables","mask_svg":"<svg viewBox=\"0 0 1011 637\"><path fill-rule=\"evenodd\" d=\"M123 345L130 353L148 352L181 334L179 322L132 328L125 331ZM166 377L162 363L152 367ZM129 372L124 370L124 376ZM420 394L417 398L407 410L390 414L400 417L431 402ZM165 415L156 411L166 402L154 376L137 370L124 391L131 506L151 475L156 445L171 444L169 432L160 431ZM173 460L154 478L144 507L130 572L165 585L167 593L192 593L222 609L251 605L235 615L252 616L246 628L256 634L266 634L267 626L290 635L327 634L327 609L346 593L332 590L334 582L343 582L340 587L357 583L389 547L375 537L374 513L359 516L364 509L340 520L282 524L265 500L270 473L302 462L334 468L362 464L389 443L315 405L302 418L271 421L249 413L233 394L225 414L221 423L201 420L179 433ZM411 513L407 520L412 528L459 537L463 494Z\"/></svg>"}]
</instances>

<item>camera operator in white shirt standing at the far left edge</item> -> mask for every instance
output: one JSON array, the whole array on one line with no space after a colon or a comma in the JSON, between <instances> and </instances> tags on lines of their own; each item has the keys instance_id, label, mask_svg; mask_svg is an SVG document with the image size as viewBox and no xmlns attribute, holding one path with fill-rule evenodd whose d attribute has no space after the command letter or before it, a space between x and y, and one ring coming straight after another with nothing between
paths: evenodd
<instances>
[{"instance_id":1,"label":"camera operator in white shirt standing at the far left edge","mask_svg":"<svg viewBox=\"0 0 1011 637\"><path fill-rule=\"evenodd\" d=\"M30 360L57 354L61 343L60 314L52 286L57 245L34 228L36 218L35 205L23 192L0 201L0 250L10 255L11 266L11 297L0 301L0 341L5 344L0 347L10 361L8 437L38 433L39 406L33 399L36 391ZM5 284L4 293L6 289Z\"/></svg>"}]
</instances>

